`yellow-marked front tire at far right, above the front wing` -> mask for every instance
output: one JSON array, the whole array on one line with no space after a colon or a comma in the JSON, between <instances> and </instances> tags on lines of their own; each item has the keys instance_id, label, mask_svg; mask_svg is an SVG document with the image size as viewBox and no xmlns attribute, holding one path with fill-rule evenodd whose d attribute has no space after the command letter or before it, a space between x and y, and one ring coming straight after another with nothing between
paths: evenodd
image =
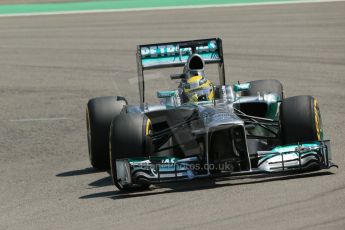
<instances>
[{"instance_id":1,"label":"yellow-marked front tire at far right, above the front wing","mask_svg":"<svg viewBox=\"0 0 345 230\"><path fill-rule=\"evenodd\" d=\"M323 140L317 100L312 96L289 97L280 105L281 135L284 144Z\"/></svg>"}]
</instances>

